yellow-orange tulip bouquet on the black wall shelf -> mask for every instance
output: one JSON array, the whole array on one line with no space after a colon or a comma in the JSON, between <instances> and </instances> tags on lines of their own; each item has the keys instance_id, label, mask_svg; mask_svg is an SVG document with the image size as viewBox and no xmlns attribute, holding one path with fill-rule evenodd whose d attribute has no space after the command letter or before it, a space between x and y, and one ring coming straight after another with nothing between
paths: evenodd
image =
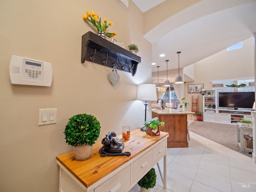
<instances>
[{"instance_id":1,"label":"yellow-orange tulip bouquet on the black wall shelf","mask_svg":"<svg viewBox=\"0 0 256 192\"><path fill-rule=\"evenodd\" d=\"M93 24L98 31L105 32L109 26L113 25L113 22L109 22L107 24L106 18L104 18L103 23L101 23L101 18L99 18L98 14L95 14L94 11L92 11L92 14L89 11L86 11L86 15L83 15L83 18L84 20L89 21L91 24ZM117 34L115 32L105 32L105 35L108 37L114 37Z\"/></svg>"}]
</instances>

